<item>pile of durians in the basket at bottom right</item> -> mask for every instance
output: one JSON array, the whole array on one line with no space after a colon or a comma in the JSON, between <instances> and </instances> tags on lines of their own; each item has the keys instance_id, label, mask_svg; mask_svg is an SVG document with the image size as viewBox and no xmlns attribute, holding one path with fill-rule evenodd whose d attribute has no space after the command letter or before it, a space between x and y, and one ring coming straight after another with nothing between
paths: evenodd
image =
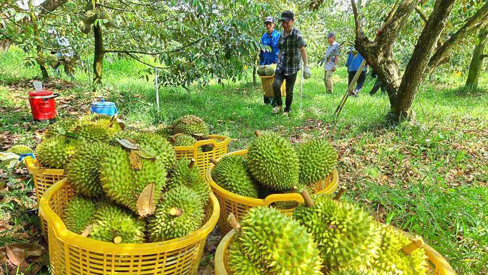
<instances>
[{"instance_id":1,"label":"pile of durians in the basket at bottom right","mask_svg":"<svg viewBox=\"0 0 488 275\"><path fill-rule=\"evenodd\" d=\"M344 191L344 189L343 189ZM234 233L216 255L216 274L387 275L429 274L420 237L376 222L355 204L329 194L310 197L292 216L273 208L249 210L241 222L229 215ZM224 241L223 241L224 242ZM225 268L223 269L222 266ZM223 270L225 270L223 272Z\"/></svg>"}]
</instances>

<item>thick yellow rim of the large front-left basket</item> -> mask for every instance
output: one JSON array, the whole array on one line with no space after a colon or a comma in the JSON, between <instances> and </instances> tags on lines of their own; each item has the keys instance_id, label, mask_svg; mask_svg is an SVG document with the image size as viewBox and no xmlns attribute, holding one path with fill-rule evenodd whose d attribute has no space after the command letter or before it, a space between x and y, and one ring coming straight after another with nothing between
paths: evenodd
<instances>
[{"instance_id":1,"label":"thick yellow rim of the large front-left basket","mask_svg":"<svg viewBox=\"0 0 488 275\"><path fill-rule=\"evenodd\" d=\"M171 239L162 242L154 243L142 243L142 244L114 244L110 242L100 241L83 237L79 234L69 231L61 218L51 209L49 202L52 197L63 188L67 182L67 178L64 178L53 186L51 186L42 196L39 204L40 214L47 220L48 224L53 228L57 238L80 248L90 251L104 253L104 254L157 254L164 251L173 251L184 248L191 245L206 236L214 229L220 215L220 206L217 197L210 193L210 204L212 206L212 214L209 219L200 227L197 231L192 232L180 238ZM208 206L207 206L208 207Z\"/></svg>"}]
</instances>

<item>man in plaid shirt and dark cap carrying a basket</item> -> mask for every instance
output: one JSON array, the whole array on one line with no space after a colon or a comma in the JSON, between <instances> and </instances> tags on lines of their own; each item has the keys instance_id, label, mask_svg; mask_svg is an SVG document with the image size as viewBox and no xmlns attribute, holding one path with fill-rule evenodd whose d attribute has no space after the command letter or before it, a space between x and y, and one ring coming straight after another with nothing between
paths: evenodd
<instances>
[{"instance_id":1,"label":"man in plaid shirt and dark cap carrying a basket","mask_svg":"<svg viewBox=\"0 0 488 275\"><path fill-rule=\"evenodd\" d=\"M273 90L277 106L273 108L273 113L278 113L283 109L283 101L281 99L281 85L286 80L286 100L285 110L283 115L287 115L291 110L291 102L293 101L293 87L297 80L297 73L300 70L301 59L304 61L304 78L310 78L310 66L308 65L308 58L305 47L306 42L302 33L293 27L295 21L292 11L285 11L281 14L281 26L283 33L278 40L278 63L276 65L275 79L273 82ZM301 57L301 59L300 59Z\"/></svg>"}]
</instances>

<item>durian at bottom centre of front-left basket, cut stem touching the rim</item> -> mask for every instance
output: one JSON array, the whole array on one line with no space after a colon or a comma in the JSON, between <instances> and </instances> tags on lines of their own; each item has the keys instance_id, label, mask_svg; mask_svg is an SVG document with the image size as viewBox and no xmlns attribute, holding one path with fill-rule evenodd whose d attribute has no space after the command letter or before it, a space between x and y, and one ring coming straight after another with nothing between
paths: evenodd
<instances>
[{"instance_id":1,"label":"durian at bottom centre of front-left basket, cut stem touching the rim","mask_svg":"<svg viewBox=\"0 0 488 275\"><path fill-rule=\"evenodd\" d=\"M121 207L106 203L95 213L90 237L106 242L143 243L145 222Z\"/></svg>"}]
</instances>

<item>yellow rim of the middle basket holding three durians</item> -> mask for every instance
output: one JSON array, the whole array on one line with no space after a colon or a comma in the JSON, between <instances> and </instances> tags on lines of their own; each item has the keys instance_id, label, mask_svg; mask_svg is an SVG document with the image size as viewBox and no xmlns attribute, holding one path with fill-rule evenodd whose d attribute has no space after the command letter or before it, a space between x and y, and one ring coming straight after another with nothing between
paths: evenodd
<instances>
[{"instance_id":1,"label":"yellow rim of the middle basket holding three durians","mask_svg":"<svg viewBox=\"0 0 488 275\"><path fill-rule=\"evenodd\" d=\"M233 151L233 152L228 152L224 156L227 156L227 155L229 155L229 156L230 155L244 155L244 154L247 154L247 149ZM224 156L218 158L217 160L222 159ZM215 168L215 165L213 163L210 163L210 165L208 166L208 168L207 168L207 170L205 172L205 178L206 178L208 184L210 185L210 187L212 189L216 190L220 194L224 194L224 196L226 196L226 197L232 198L232 200L235 201L235 202L243 203L243 204L253 204L253 205L256 205L256 206L261 206L261 205L267 205L266 201L268 200L268 198L270 196L273 197L272 199L271 198L270 199L271 200L274 200L274 201L295 200L295 199L293 199L293 197L295 197L295 195L297 193L271 194L271 195L268 195L264 199L251 198L251 197L246 197L246 196L239 195L239 194L236 194L236 193L232 193L231 191L226 190L223 187L221 187L220 185L218 185L213 180L213 178L212 178L212 170L214 168ZM321 192L327 192L328 190L336 190L338 185L339 185L339 172L336 169L334 169L332 171L332 180L331 180L330 184L326 188L324 188ZM297 201L303 202L302 200L297 200Z\"/></svg>"}]
</instances>

